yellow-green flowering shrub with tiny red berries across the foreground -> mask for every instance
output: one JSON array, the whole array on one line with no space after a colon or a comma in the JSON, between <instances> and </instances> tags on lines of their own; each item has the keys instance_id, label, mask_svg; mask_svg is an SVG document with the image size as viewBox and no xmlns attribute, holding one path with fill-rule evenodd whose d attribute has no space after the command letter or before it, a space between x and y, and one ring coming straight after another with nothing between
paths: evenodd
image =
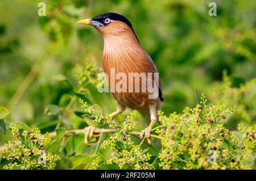
<instances>
[{"instance_id":1,"label":"yellow-green flowering shrub with tiny red berries across the foreground","mask_svg":"<svg viewBox=\"0 0 256 181\"><path fill-rule=\"evenodd\" d=\"M92 103L91 89L96 89L95 75L101 70L94 61L85 66L76 66L77 89L64 75L57 77L68 82L73 93L63 95L59 106L46 107L46 114L58 119L55 132L42 135L39 128L30 131L24 123L10 124L15 140L1 150L3 169L254 169L255 125L240 123L235 129L225 125L226 120L232 121L237 108L245 112L237 96L252 83L237 88L236 101L227 100L229 104L222 98L207 104L202 94L195 108L187 107L182 113L168 116L159 111L160 124L155 123L152 128L149 145L144 139L139 140L141 129L137 123L141 117L137 111L128 113L125 119L113 119ZM229 85L225 80L224 84ZM234 88L226 86L226 91L230 90ZM82 104L82 111L73 108L75 100ZM1 127L6 114L1 117ZM84 144L84 127L80 124L98 128L89 140L92 146Z\"/></svg>"}]
</instances>

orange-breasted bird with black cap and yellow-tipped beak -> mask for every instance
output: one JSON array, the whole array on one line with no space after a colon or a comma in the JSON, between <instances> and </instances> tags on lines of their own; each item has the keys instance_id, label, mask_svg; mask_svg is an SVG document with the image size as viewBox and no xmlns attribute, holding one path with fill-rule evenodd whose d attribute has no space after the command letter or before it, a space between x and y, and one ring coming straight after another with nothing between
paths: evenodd
<instances>
[{"instance_id":1,"label":"orange-breasted bird with black cap and yellow-tipped beak","mask_svg":"<svg viewBox=\"0 0 256 181\"><path fill-rule=\"evenodd\" d=\"M122 73L128 78L131 78L130 73L137 73L137 77L135 76L135 78L139 78L139 81L134 81L132 85L122 85L126 86L126 91L115 90L112 92L117 103L117 109L111 113L110 116L114 117L119 115L126 107L138 110L142 117L148 122L148 127L141 131L139 137L141 139L146 138L148 144L151 144L150 133L153 125L158 121L157 111L160 110L163 103L162 89L159 78L158 81L156 81L155 73L158 75L156 66L139 43L139 39L130 21L123 15L108 12L97 15L94 18L79 20L77 23L93 26L102 35L104 39L102 65L108 77L111 76L112 69L115 70L114 75ZM139 89L139 92L128 90L127 87L129 86L134 88L134 90L136 87L146 86L145 77L141 75L148 73L152 74L151 81L155 83L154 89L157 90L158 96L149 98L151 92L148 90L144 92L141 91L141 89ZM113 87L110 87L111 82L109 81L108 83L109 89L112 89ZM116 84L114 86L116 86ZM122 86L121 89L123 88ZM85 144L89 144L88 140L93 136L95 129L96 128L92 126L85 128Z\"/></svg>"}]
</instances>

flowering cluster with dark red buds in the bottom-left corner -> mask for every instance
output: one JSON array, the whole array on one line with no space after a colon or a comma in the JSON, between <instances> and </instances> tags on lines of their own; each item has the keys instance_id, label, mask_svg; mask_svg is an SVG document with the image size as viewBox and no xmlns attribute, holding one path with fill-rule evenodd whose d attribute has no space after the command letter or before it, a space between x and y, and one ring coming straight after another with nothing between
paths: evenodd
<instances>
[{"instance_id":1,"label":"flowering cluster with dark red buds in the bottom-left corner","mask_svg":"<svg viewBox=\"0 0 256 181\"><path fill-rule=\"evenodd\" d=\"M10 124L11 133L15 140L5 144L5 149L0 150L2 158L10 161L3 169L54 169L59 155L48 153L51 144L49 133L42 136L38 128L29 130L27 125L19 123L21 129L15 124ZM22 132L20 131L22 130Z\"/></svg>"}]
</instances>

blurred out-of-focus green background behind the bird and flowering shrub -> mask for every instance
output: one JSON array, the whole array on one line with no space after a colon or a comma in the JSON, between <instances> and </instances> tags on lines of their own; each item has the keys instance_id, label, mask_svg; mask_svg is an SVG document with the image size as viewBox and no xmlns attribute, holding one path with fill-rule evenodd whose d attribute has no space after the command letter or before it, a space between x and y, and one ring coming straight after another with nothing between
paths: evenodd
<instances>
[{"instance_id":1,"label":"blurred out-of-focus green background behind the bird and flowering shrub","mask_svg":"<svg viewBox=\"0 0 256 181\"><path fill-rule=\"evenodd\" d=\"M47 16L38 16L39 2L46 3ZM48 104L60 104L63 95L72 91L67 83L56 81L55 75L64 74L77 85L76 64L95 58L101 66L100 33L76 22L117 12L133 24L142 47L158 68L166 114L195 106L204 92L213 103L241 103L237 115L226 120L228 127L240 122L254 125L255 1L216 0L217 16L208 15L209 2L1 0L0 106L11 112L7 123L22 121L43 132L54 130L56 117L46 115L44 109ZM229 76L229 87L221 83L223 70ZM237 94L232 96L230 91ZM93 91L92 96L104 113L115 110L110 94ZM80 106L77 103L73 109L81 110ZM81 127L76 124L79 117L68 119L71 128ZM1 145L9 139L9 133L0 133Z\"/></svg>"}]
</instances>

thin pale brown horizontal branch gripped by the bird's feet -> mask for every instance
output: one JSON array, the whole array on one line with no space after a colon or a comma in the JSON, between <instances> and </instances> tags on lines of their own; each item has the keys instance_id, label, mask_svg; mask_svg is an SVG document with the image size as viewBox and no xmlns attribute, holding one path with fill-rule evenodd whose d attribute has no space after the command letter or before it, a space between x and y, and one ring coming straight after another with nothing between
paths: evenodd
<instances>
[{"instance_id":1,"label":"thin pale brown horizontal branch gripped by the bird's feet","mask_svg":"<svg viewBox=\"0 0 256 181\"><path fill-rule=\"evenodd\" d=\"M97 133L98 134L99 133L115 133L115 132L117 132L115 129L100 129L99 128L99 129L94 130L94 133L96 133L96 134ZM68 136L69 134L84 134L84 129L73 129L73 130L68 130L68 131L65 132L65 135ZM139 134L141 134L141 132L133 131L133 132L127 132L127 134L139 135ZM56 132L51 132L51 133L49 133L49 135L51 137L55 137ZM42 136L44 136L44 134ZM156 138L156 139L159 139L159 140L162 140L162 138L163 138L163 137L155 135L155 134L150 134L150 137ZM19 143L20 143L20 141L15 142L14 146L18 145ZM5 146L0 146L0 150L2 150L2 149L5 149Z\"/></svg>"}]
</instances>

